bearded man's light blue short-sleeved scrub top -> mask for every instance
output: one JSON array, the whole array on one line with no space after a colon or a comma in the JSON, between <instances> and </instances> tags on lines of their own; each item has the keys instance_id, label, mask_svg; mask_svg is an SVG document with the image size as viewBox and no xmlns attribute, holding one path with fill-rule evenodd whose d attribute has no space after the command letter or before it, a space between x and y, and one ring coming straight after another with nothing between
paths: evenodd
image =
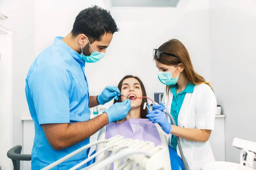
<instances>
[{"instance_id":1,"label":"bearded man's light blue short-sleeved scrub top","mask_svg":"<svg viewBox=\"0 0 256 170\"><path fill-rule=\"evenodd\" d=\"M26 77L26 98L35 122L32 170L39 170L88 144L90 138L54 150L44 134L42 124L73 123L90 119L90 100L85 63L82 57L61 39L46 48L32 63ZM67 170L87 159L87 150L59 164L54 170ZM83 167L86 167L85 164Z\"/></svg>"}]
</instances>

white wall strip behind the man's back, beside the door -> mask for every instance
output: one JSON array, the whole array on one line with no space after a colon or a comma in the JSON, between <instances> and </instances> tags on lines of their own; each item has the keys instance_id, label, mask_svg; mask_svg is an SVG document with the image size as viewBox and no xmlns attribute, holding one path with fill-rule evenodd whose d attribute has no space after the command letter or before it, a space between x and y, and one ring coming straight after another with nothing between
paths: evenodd
<instances>
[{"instance_id":1,"label":"white wall strip behind the man's back, beside the door","mask_svg":"<svg viewBox=\"0 0 256 170\"><path fill-rule=\"evenodd\" d=\"M13 143L22 145L22 114L29 113L25 95L25 79L35 59L34 0L2 0L0 11L8 16L0 24L14 33L13 37ZM0 129L4 130L4 129Z\"/></svg>"}]
</instances>

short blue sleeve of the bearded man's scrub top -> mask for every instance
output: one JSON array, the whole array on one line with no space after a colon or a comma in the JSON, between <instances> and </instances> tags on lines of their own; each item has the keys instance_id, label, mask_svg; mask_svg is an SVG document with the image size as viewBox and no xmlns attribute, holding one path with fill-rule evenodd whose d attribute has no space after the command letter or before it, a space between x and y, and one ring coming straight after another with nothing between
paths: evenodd
<instances>
[{"instance_id":1,"label":"short blue sleeve of the bearded man's scrub top","mask_svg":"<svg viewBox=\"0 0 256 170\"><path fill-rule=\"evenodd\" d=\"M28 85L39 125L70 122L70 78L65 69L51 65L36 68Z\"/></svg>"}]
</instances>

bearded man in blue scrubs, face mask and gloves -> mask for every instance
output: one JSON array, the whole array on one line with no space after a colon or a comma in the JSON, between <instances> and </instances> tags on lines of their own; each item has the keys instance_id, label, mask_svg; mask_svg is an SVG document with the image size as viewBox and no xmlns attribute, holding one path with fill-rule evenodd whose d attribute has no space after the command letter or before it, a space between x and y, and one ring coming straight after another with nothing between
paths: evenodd
<instances>
[{"instance_id":1,"label":"bearded man in blue scrubs, face mask and gloves","mask_svg":"<svg viewBox=\"0 0 256 170\"><path fill-rule=\"evenodd\" d=\"M56 37L54 44L32 63L26 77L26 98L35 122L32 170L42 169L88 144L90 136L128 114L129 99L90 119L89 108L119 98L117 87L108 87L114 92L105 88L98 96L89 96L84 73L87 63L104 57L116 31L108 11L98 6L86 8L77 15L71 33ZM53 169L70 169L87 159L88 152L84 150Z\"/></svg>"}]
</instances>

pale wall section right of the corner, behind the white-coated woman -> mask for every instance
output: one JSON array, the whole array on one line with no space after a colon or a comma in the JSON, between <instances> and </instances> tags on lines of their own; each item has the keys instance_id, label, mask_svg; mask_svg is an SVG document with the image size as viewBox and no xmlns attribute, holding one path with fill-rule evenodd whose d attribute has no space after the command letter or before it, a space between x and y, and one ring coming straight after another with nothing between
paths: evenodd
<instances>
[{"instance_id":1,"label":"pale wall section right of the corner, behind the white-coated woman","mask_svg":"<svg viewBox=\"0 0 256 170\"><path fill-rule=\"evenodd\" d=\"M237 163L234 137L256 142L255 9L255 0L210 0L211 78L226 115L226 161Z\"/></svg>"}]
</instances>

